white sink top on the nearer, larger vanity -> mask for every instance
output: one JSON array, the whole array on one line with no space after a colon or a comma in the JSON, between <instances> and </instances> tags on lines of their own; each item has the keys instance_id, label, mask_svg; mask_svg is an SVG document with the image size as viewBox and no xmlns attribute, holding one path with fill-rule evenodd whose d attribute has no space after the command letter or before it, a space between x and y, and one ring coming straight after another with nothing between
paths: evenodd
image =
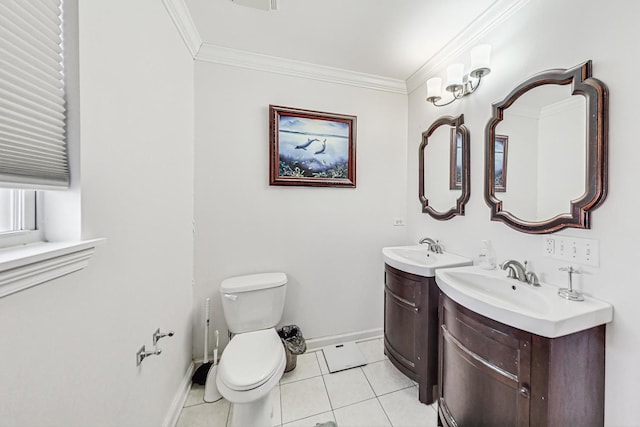
<instances>
[{"instance_id":1,"label":"white sink top on the nearer, larger vanity","mask_svg":"<svg viewBox=\"0 0 640 427\"><path fill-rule=\"evenodd\" d=\"M588 296L584 301L568 301L558 296L556 286L532 287L507 278L504 270L477 266L438 270L436 283L448 297L476 313L548 338L613 319L611 304Z\"/></svg>"}]
</instances>

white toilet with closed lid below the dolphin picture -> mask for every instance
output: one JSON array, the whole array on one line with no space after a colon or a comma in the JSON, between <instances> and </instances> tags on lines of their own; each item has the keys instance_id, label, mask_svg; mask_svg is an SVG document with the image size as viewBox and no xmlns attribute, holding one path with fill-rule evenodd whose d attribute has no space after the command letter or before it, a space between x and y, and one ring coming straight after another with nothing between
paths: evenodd
<instances>
[{"instance_id":1,"label":"white toilet with closed lid below the dolphin picture","mask_svg":"<svg viewBox=\"0 0 640 427\"><path fill-rule=\"evenodd\" d=\"M231 425L271 427L271 390L286 365L275 330L282 317L287 276L262 273L232 277L220 285L222 309L233 337L227 344L216 384L231 402Z\"/></svg>"}]
</instances>

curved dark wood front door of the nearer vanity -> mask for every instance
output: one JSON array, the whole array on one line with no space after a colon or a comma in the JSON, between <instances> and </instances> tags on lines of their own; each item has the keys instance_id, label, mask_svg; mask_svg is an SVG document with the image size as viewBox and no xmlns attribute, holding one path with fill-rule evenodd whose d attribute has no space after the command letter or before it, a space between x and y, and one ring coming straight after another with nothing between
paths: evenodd
<instances>
[{"instance_id":1,"label":"curved dark wood front door of the nearer vanity","mask_svg":"<svg viewBox=\"0 0 640 427\"><path fill-rule=\"evenodd\" d=\"M440 400L447 426L529 426L531 334L441 294Z\"/></svg>"}]
</instances>

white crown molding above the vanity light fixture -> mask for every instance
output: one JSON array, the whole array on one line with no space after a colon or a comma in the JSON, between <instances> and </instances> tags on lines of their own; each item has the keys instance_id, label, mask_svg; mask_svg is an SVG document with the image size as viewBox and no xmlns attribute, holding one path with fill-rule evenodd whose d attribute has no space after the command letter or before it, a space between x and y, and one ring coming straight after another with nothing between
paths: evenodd
<instances>
[{"instance_id":1,"label":"white crown molding above the vanity light fixture","mask_svg":"<svg viewBox=\"0 0 640 427\"><path fill-rule=\"evenodd\" d=\"M482 37L514 15L529 3L529 1L530 0L496 0L407 79L407 93L412 93L424 85L430 77L442 70L445 65L451 63L455 58L478 44Z\"/></svg>"}]
</instances>

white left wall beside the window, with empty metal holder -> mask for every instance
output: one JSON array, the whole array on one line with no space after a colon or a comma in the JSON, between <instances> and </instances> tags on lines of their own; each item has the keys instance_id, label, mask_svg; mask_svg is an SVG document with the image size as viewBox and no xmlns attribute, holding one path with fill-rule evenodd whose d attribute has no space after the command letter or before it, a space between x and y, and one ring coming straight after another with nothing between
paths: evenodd
<instances>
[{"instance_id":1,"label":"white left wall beside the window, with empty metal holder","mask_svg":"<svg viewBox=\"0 0 640 427\"><path fill-rule=\"evenodd\" d=\"M106 242L0 299L0 425L157 427L191 363L193 59L157 0L80 1L79 24L81 212L66 215ZM175 336L136 367L158 327Z\"/></svg>"}]
</instances>

